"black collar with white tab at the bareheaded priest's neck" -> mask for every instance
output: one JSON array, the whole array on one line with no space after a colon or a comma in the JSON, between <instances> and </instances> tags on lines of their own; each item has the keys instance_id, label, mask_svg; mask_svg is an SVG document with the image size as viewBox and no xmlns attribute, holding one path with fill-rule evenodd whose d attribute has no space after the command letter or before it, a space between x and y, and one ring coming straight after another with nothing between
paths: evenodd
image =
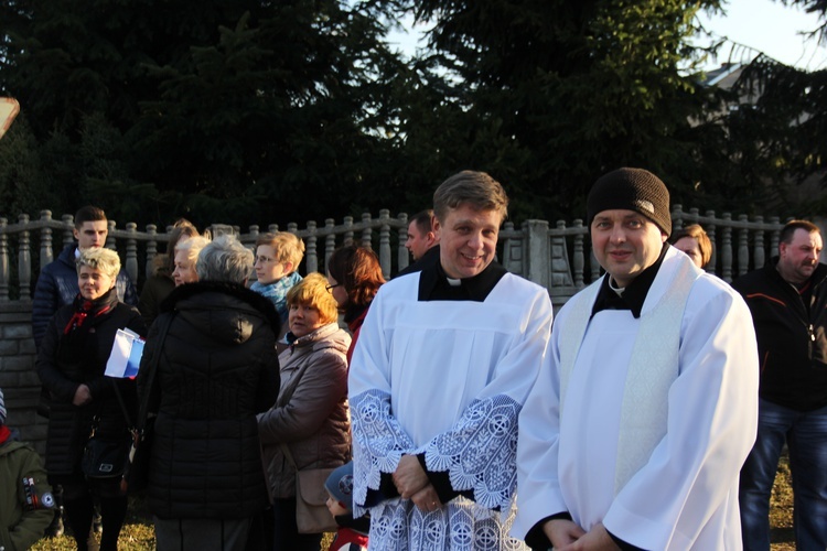
<instances>
[{"instance_id":1,"label":"black collar with white tab at the bareheaded priest's neck","mask_svg":"<svg viewBox=\"0 0 827 551\"><path fill-rule=\"evenodd\" d=\"M419 300L483 302L506 273L501 264L491 262L473 278L457 280L445 274L441 262L433 262L419 274Z\"/></svg>"}]
</instances>

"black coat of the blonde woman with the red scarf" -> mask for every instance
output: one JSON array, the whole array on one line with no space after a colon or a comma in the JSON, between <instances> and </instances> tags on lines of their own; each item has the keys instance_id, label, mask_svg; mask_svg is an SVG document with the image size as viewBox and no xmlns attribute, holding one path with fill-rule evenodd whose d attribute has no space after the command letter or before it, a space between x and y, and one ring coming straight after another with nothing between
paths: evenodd
<instances>
[{"instance_id":1,"label":"black coat of the blonde woman with the red scarf","mask_svg":"<svg viewBox=\"0 0 827 551\"><path fill-rule=\"evenodd\" d=\"M112 383L118 385L132 419L136 411L135 381L111 379L105 377L104 371L118 329L129 327L140 335L146 334L140 314L135 307L119 302L103 315L89 316L84 322L88 332L83 342L75 345L83 353L79 359L68 360L72 354L65 350L64 327L74 312L74 305L57 311L49 322L37 353L37 374L52 399L46 437L46 471L50 475L79 473L83 447L95 414L100 418L99 433L112 437L125 433L127 421ZM92 402L77 407L72 400L82 383L89 387Z\"/></svg>"}]
</instances>

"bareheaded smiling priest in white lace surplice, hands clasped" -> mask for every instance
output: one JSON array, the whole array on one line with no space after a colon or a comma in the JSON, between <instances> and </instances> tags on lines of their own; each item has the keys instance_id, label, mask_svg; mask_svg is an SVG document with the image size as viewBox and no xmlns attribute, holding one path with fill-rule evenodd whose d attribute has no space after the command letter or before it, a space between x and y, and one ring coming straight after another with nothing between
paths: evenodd
<instances>
[{"instance_id":1,"label":"bareheaded smiling priest in white lace surplice, hands clasped","mask_svg":"<svg viewBox=\"0 0 827 551\"><path fill-rule=\"evenodd\" d=\"M548 292L494 262L502 186L464 171L433 195L439 262L379 290L351 363L354 516L370 548L525 549L517 418L551 332Z\"/></svg>"}]
</instances>

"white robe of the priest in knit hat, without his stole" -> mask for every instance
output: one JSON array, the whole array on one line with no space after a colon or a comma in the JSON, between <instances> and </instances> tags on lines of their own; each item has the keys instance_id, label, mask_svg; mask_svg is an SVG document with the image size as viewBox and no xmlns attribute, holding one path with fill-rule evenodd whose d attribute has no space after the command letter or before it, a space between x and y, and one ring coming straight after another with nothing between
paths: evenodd
<instances>
[{"instance_id":1,"label":"white robe of the priest in knit hat, without his stole","mask_svg":"<svg viewBox=\"0 0 827 551\"><path fill-rule=\"evenodd\" d=\"M615 490L621 410L642 320L662 306L684 255L668 250L635 320L601 311L589 322L560 406L560 311L537 383L520 413L518 512L513 534L568 511L643 549L741 549L738 479L755 440L759 364L750 312L713 276L692 285L680 321L678 376L668 389L666 435ZM656 334L646 336L653 348Z\"/></svg>"}]
</instances>

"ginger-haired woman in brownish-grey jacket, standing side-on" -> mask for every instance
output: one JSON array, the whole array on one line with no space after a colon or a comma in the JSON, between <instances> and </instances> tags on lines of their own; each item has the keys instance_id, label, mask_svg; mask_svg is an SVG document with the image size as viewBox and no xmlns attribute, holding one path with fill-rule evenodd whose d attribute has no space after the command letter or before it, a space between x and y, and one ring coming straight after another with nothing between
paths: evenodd
<instances>
[{"instance_id":1,"label":"ginger-haired woman in brownish-grey jacket, standing side-on","mask_svg":"<svg viewBox=\"0 0 827 551\"><path fill-rule=\"evenodd\" d=\"M345 358L351 337L339 328L327 285L324 276L311 273L288 291L290 347L279 356L281 390L276 406L258 417L277 550L318 551L322 539L299 533L293 463L303 471L337 467L351 458Z\"/></svg>"}]
</instances>

